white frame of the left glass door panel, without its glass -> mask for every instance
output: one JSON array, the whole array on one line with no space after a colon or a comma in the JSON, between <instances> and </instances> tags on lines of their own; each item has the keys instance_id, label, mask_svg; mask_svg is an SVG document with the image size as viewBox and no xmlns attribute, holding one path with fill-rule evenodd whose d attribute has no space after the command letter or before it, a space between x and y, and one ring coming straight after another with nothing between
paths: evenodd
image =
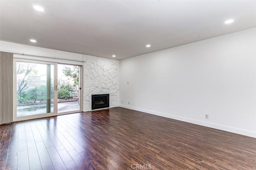
<instances>
[{"instance_id":1,"label":"white frame of the left glass door panel, without its glass","mask_svg":"<svg viewBox=\"0 0 256 170\"><path fill-rule=\"evenodd\" d=\"M58 85L58 63L48 62L48 61L37 61L32 59L13 59L13 121L24 121L29 119L38 119L43 117L50 117L58 115L58 91L54 88L54 111L52 113L42 113L38 115L28 115L17 117L17 62L26 62L26 63L38 63L38 64L49 64L54 65L54 87Z\"/></svg>"}]
</instances>

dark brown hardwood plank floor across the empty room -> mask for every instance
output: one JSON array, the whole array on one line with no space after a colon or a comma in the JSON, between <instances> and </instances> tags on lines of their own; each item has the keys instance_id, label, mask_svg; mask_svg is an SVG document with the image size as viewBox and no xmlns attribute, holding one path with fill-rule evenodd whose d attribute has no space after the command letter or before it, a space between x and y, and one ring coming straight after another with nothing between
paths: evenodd
<instances>
[{"instance_id":1,"label":"dark brown hardwood plank floor across the empty room","mask_svg":"<svg viewBox=\"0 0 256 170\"><path fill-rule=\"evenodd\" d=\"M256 169L256 139L124 108L0 126L0 169Z\"/></svg>"}]
</instances>

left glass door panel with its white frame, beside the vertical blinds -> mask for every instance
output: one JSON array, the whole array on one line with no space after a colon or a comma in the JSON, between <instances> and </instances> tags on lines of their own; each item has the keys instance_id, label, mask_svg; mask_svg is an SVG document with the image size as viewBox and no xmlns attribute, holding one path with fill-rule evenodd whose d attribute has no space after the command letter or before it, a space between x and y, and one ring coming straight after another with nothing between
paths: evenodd
<instances>
[{"instance_id":1,"label":"left glass door panel with its white frame, beside the vertical blinds","mask_svg":"<svg viewBox=\"0 0 256 170\"><path fill-rule=\"evenodd\" d=\"M57 63L14 59L14 121L57 115Z\"/></svg>"}]
</instances>

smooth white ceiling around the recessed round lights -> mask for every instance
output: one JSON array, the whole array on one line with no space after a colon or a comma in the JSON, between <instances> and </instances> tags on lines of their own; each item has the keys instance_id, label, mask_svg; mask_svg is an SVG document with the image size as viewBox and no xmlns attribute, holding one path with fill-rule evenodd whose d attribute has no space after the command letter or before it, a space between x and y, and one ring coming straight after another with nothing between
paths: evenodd
<instances>
[{"instance_id":1,"label":"smooth white ceiling around the recessed round lights","mask_svg":"<svg viewBox=\"0 0 256 170\"><path fill-rule=\"evenodd\" d=\"M228 19L234 22L225 25ZM255 0L0 1L0 40L106 58L124 59L252 27Z\"/></svg>"}]
</instances>

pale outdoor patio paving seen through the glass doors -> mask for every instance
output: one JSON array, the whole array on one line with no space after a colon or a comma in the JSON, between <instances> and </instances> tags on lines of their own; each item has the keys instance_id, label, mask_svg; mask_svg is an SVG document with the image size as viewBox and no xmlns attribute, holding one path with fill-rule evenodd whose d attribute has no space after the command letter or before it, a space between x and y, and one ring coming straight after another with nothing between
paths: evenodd
<instances>
[{"instance_id":1,"label":"pale outdoor patio paving seen through the glass doors","mask_svg":"<svg viewBox=\"0 0 256 170\"><path fill-rule=\"evenodd\" d=\"M78 101L58 103L58 113L78 110L80 110L80 105L78 104ZM51 104L51 112L53 112L53 104ZM42 113L46 113L46 104L17 107L17 117L38 115Z\"/></svg>"}]
</instances>

